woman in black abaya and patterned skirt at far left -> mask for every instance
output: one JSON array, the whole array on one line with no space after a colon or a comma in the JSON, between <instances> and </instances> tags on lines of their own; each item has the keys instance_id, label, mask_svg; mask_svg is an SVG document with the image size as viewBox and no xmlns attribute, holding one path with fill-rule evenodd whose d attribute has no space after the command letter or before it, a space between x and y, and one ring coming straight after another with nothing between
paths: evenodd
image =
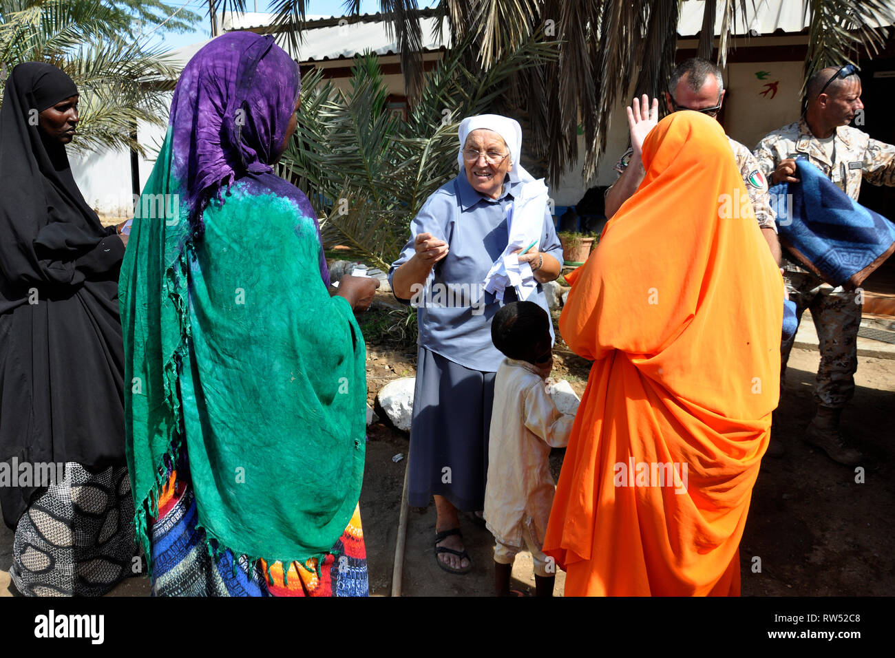
<instances>
[{"instance_id":1,"label":"woman in black abaya and patterned skirt at far left","mask_svg":"<svg viewBox=\"0 0 895 658\"><path fill-rule=\"evenodd\" d=\"M0 108L0 507L26 595L105 594L135 552L118 318L127 237L99 223L72 177L77 104L71 78L29 62Z\"/></svg>"}]
</instances>

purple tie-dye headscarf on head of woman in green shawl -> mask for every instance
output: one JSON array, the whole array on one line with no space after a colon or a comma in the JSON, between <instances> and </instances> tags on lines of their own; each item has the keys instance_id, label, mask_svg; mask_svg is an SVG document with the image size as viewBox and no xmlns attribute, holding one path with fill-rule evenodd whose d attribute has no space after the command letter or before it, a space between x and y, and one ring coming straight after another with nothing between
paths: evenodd
<instances>
[{"instance_id":1,"label":"purple tie-dye headscarf on head of woman in green shawl","mask_svg":"<svg viewBox=\"0 0 895 658\"><path fill-rule=\"evenodd\" d=\"M272 170L300 90L298 65L254 32L216 38L184 67L169 119L172 165L197 225L223 185Z\"/></svg>"}]
</instances>

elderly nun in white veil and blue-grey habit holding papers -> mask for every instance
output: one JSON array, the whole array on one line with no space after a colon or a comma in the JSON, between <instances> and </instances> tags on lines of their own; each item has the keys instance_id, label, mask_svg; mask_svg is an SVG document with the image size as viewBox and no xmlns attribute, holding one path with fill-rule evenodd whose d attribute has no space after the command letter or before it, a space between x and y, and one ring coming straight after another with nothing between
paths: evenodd
<instances>
[{"instance_id":1,"label":"elderly nun in white veil and blue-grey habit holding papers","mask_svg":"<svg viewBox=\"0 0 895 658\"><path fill-rule=\"evenodd\" d=\"M503 359L491 344L491 319L514 301L548 310L541 286L559 276L562 248L547 187L519 163L518 122L470 116L458 132L459 172L423 204L388 277L397 299L416 307L420 329L409 502L426 507L434 496L435 560L465 574L472 564L457 511L481 517Z\"/></svg>"}]
</instances>

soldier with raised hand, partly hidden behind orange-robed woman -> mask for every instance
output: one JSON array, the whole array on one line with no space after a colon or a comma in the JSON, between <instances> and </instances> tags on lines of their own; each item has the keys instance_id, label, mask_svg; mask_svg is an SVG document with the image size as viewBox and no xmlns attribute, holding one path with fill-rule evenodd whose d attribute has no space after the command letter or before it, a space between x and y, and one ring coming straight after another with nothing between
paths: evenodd
<instances>
[{"instance_id":1,"label":"soldier with raised hand, partly hidden behind orange-robed woman","mask_svg":"<svg viewBox=\"0 0 895 658\"><path fill-rule=\"evenodd\" d=\"M718 116L721 104L724 102L724 81L720 68L707 59L691 57L671 74L669 90L665 94L665 102L669 112L691 109L702 112L704 115ZM641 115L641 103L634 99L631 107L627 108L628 124L631 126L631 148L616 163L615 169L619 174L618 180L606 191L606 217L611 218L621 207L621 204L634 194L637 187L644 180L644 165L640 159L640 148L644 143L646 133L656 124L659 112L659 100L653 98L652 108L648 109L649 98L644 94L643 115ZM731 140L730 148L737 160L746 191L749 192L749 200L755 211L758 226L762 229L762 235L771 249L774 261L780 263L780 242L777 239L777 225L774 222L774 212L771 209L771 199L768 194L768 184L752 152L736 140ZM628 167L631 162L635 167Z\"/></svg>"}]
</instances>

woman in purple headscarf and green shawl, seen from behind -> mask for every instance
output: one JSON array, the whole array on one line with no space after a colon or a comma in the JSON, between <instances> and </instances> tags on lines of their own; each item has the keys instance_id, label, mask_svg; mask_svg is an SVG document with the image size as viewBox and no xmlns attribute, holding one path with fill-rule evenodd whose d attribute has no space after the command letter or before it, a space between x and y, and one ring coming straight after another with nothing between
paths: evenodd
<instances>
[{"instance_id":1,"label":"woman in purple headscarf and green shawl, seen from behind","mask_svg":"<svg viewBox=\"0 0 895 658\"><path fill-rule=\"evenodd\" d=\"M203 47L133 223L125 425L154 594L367 594L353 310L377 283L328 295L311 204L272 173L299 88L272 38Z\"/></svg>"}]
</instances>

